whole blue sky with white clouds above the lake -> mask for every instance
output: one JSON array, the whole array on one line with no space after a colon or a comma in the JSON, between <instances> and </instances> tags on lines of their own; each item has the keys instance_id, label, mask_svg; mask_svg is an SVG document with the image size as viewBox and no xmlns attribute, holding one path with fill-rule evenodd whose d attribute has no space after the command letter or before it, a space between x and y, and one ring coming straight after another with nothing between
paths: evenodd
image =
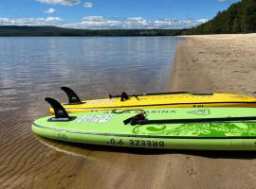
<instances>
[{"instance_id":1,"label":"whole blue sky with white clouds above the lake","mask_svg":"<svg viewBox=\"0 0 256 189\"><path fill-rule=\"evenodd\" d=\"M174 29L207 22L240 0L1 0L0 26Z\"/></svg>"}]
</instances>

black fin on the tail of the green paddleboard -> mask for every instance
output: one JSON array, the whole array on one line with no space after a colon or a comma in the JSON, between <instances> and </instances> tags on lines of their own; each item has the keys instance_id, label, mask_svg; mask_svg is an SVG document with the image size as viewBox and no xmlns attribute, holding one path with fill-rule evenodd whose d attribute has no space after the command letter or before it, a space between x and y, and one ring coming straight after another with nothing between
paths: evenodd
<instances>
[{"instance_id":1,"label":"black fin on the tail of the green paddleboard","mask_svg":"<svg viewBox=\"0 0 256 189\"><path fill-rule=\"evenodd\" d=\"M68 115L64 107L57 100L50 97L46 97L45 100L50 104L55 113L55 117L51 118L50 121L70 121L74 119L74 117Z\"/></svg>"}]
</instances>

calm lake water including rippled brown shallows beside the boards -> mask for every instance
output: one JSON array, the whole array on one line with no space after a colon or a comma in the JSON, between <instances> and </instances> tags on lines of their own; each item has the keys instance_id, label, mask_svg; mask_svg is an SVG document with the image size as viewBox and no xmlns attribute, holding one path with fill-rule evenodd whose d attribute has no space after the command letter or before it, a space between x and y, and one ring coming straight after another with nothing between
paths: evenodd
<instances>
[{"instance_id":1,"label":"calm lake water including rippled brown shallows beside the boards","mask_svg":"<svg viewBox=\"0 0 256 189\"><path fill-rule=\"evenodd\" d=\"M32 121L49 114L46 96L67 100L60 89L64 85L82 99L166 91L179 42L173 37L0 38L0 188L56 188L73 180L70 174L80 167L87 171L82 176L114 167L119 153L36 137Z\"/></svg>"}]
</instances>

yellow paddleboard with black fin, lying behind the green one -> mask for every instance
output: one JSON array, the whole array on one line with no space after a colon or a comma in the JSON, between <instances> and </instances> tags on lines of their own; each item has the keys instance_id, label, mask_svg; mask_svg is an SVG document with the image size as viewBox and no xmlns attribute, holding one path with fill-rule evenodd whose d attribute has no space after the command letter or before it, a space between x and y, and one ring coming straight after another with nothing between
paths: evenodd
<instances>
[{"instance_id":1,"label":"yellow paddleboard with black fin, lying behind the green one","mask_svg":"<svg viewBox=\"0 0 256 189\"><path fill-rule=\"evenodd\" d=\"M62 87L69 103L63 104L67 112L98 112L109 110L139 110L159 108L244 107L255 108L256 98L242 94L122 94L109 98L81 101L74 91ZM53 109L50 109L54 113Z\"/></svg>"}]
</instances>

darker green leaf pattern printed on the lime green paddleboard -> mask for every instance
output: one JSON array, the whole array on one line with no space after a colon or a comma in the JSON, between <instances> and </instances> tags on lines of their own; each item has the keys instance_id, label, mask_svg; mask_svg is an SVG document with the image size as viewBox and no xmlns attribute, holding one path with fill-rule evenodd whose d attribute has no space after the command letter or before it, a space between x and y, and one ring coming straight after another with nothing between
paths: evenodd
<instances>
[{"instance_id":1,"label":"darker green leaf pattern printed on the lime green paddleboard","mask_svg":"<svg viewBox=\"0 0 256 189\"><path fill-rule=\"evenodd\" d=\"M141 125L134 128L133 133L167 136L256 136L256 123Z\"/></svg>"}]
</instances>

